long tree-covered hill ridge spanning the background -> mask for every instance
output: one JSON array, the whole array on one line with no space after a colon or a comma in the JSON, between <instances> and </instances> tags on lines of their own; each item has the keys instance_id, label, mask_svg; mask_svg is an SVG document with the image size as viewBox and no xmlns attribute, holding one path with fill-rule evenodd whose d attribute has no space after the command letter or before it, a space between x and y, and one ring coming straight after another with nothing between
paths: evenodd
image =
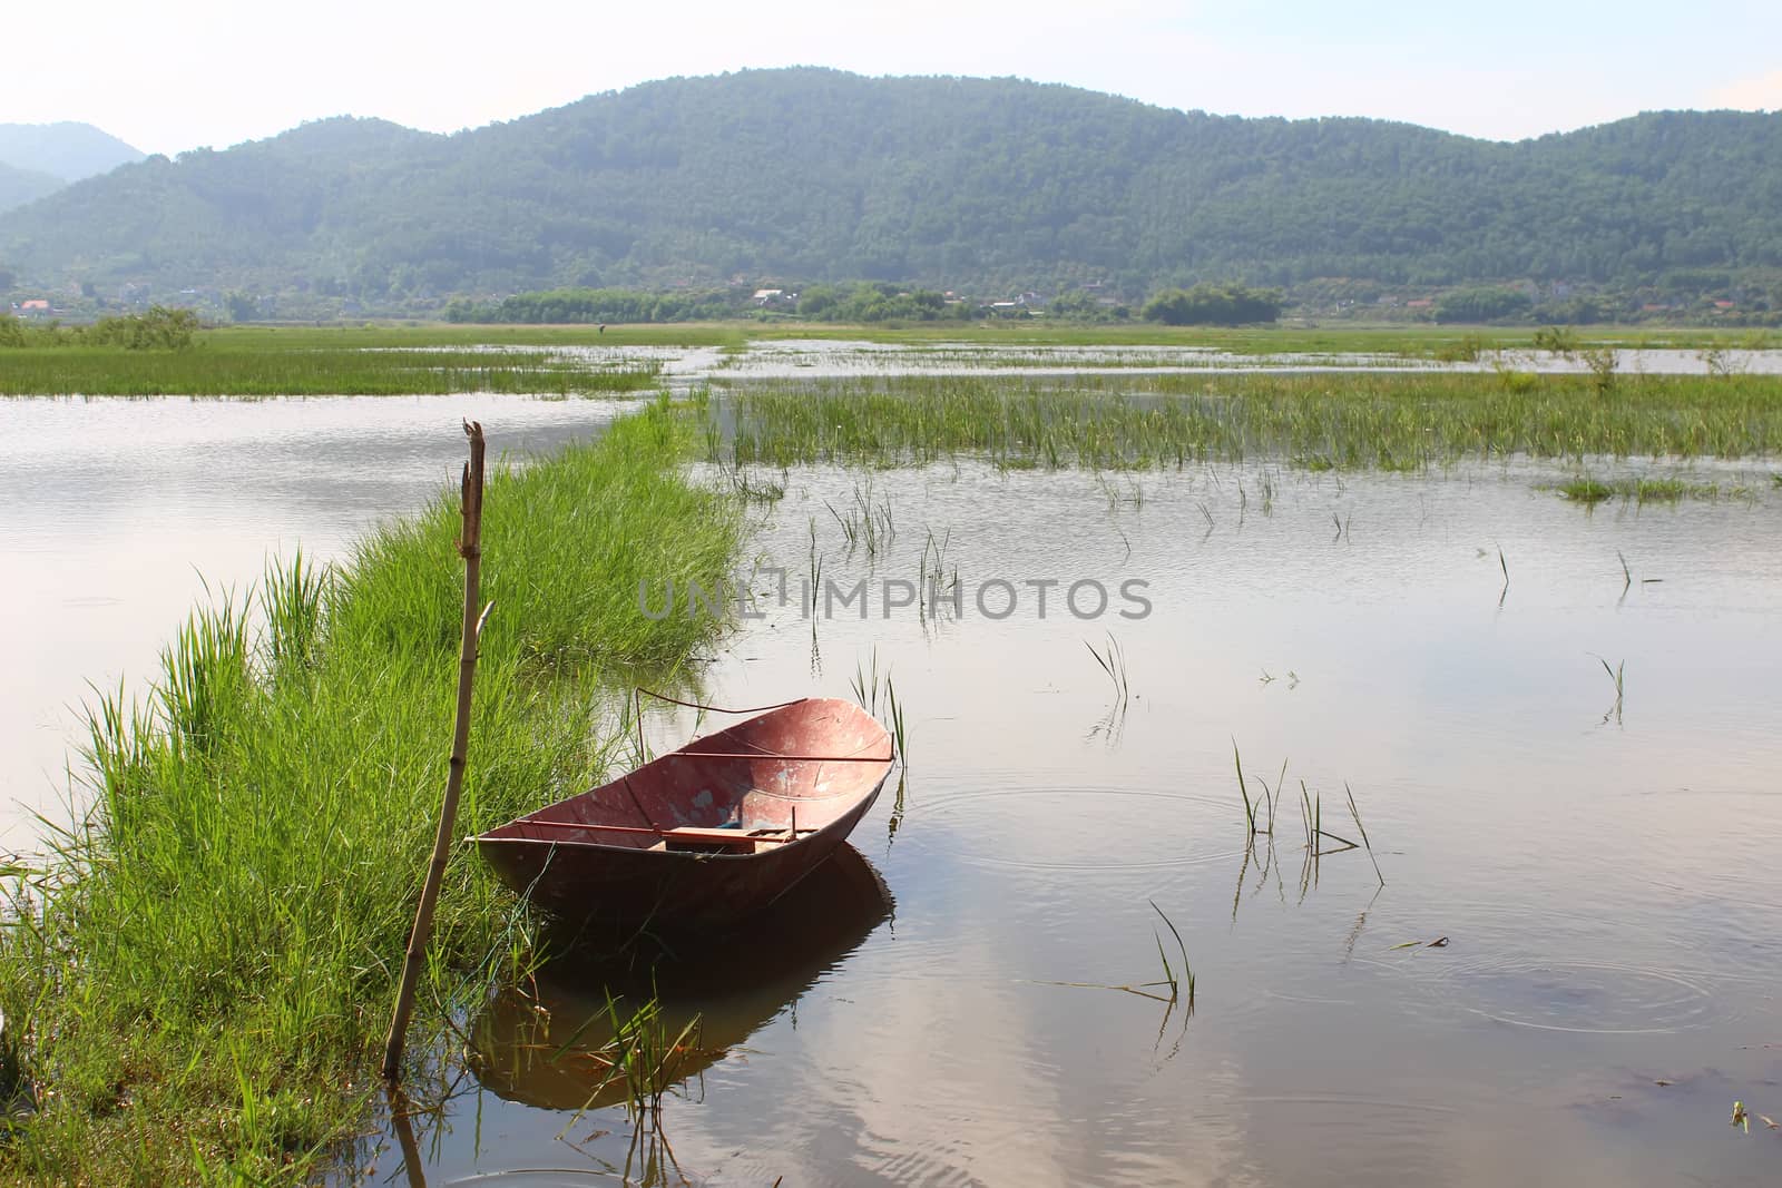
<instances>
[{"instance_id":1,"label":"long tree-covered hill ridge spanning the background","mask_svg":"<svg viewBox=\"0 0 1782 1188\"><path fill-rule=\"evenodd\" d=\"M674 78L444 137L330 119L0 216L45 283L392 299L552 285L1643 281L1782 265L1782 114L1538 141L1060 85Z\"/></svg>"}]
</instances>

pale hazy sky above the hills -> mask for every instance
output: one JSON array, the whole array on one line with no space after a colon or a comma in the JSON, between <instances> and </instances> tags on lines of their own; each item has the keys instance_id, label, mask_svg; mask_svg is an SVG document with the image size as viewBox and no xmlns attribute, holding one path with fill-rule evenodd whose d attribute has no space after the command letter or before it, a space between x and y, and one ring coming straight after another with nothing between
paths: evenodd
<instances>
[{"instance_id":1,"label":"pale hazy sky above the hills","mask_svg":"<svg viewBox=\"0 0 1782 1188\"><path fill-rule=\"evenodd\" d=\"M1240 116L1518 139L1782 109L1777 0L87 0L7 5L0 123L178 153L324 116L453 132L670 75L1018 75Z\"/></svg>"}]
</instances>

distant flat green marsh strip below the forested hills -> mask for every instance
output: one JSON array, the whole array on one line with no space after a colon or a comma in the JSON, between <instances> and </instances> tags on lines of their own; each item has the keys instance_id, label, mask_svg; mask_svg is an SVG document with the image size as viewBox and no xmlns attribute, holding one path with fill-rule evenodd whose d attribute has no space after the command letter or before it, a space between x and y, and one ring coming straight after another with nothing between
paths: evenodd
<instances>
[{"instance_id":1,"label":"distant flat green marsh strip below the forested hills","mask_svg":"<svg viewBox=\"0 0 1782 1188\"><path fill-rule=\"evenodd\" d=\"M998 365L1057 365L1026 347L1126 351L1098 367L1181 365L1183 347L1265 358L1271 354L1479 360L1495 351L1543 346L1533 328L1465 326L1251 326L1169 328L1135 324L948 322L921 326L841 326L830 322L691 322L665 326L458 326L364 322L339 326L221 326L200 330L182 351L64 344L7 347L0 395L408 395L438 392L599 394L650 387L654 365L590 367L563 347L716 347L740 353L748 342L809 338L928 347L975 363L984 349L1007 354ZM1593 328L1572 333L1572 347L1689 349L1730 360L1729 351L1775 347L1761 331ZM966 351L948 351L948 344ZM486 351L476 347L499 347ZM1135 347L1157 347L1132 354ZM381 356L381 358L380 358ZM1349 360L1356 362L1356 360Z\"/></svg>"}]
</instances>

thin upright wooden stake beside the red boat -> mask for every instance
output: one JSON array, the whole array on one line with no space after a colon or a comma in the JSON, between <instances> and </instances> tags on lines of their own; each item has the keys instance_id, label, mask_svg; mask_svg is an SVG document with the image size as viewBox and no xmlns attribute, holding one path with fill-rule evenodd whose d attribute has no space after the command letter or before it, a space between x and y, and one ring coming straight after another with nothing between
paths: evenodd
<instances>
[{"instance_id":1,"label":"thin upright wooden stake beside the red boat","mask_svg":"<svg viewBox=\"0 0 1782 1188\"><path fill-rule=\"evenodd\" d=\"M440 828L433 835L433 862L421 887L421 907L415 926L408 932L408 958L403 962L403 985L396 994L396 1015L390 1019L390 1038L383 1046L383 1079L396 1083L403 1072L403 1044L408 1038L408 1015L415 1006L415 983L421 962L433 932L433 908L438 905L440 882L446 878L446 858L451 851L453 819L458 816L458 793L463 791L465 753L470 748L470 684L476 679L476 648L483 634L483 620L490 607L478 614L483 570L483 426L463 422L470 438L470 461L463 468L463 536L458 556L463 557L463 645L458 654L458 720L453 728L451 769L446 777L446 801L440 805ZM490 604L494 606L494 604Z\"/></svg>"}]
</instances>

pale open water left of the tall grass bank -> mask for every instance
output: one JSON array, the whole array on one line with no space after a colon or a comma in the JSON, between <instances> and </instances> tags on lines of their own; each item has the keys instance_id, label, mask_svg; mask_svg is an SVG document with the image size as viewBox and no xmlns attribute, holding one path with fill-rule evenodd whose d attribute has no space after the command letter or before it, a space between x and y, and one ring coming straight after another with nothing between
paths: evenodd
<instances>
[{"instance_id":1,"label":"pale open water left of the tall grass bank","mask_svg":"<svg viewBox=\"0 0 1782 1188\"><path fill-rule=\"evenodd\" d=\"M69 743L93 686L143 688L210 591L246 591L296 549L340 559L463 465L465 417L515 456L586 436L622 404L510 395L11 399L0 468L0 846L66 818ZM91 682L91 684L89 684Z\"/></svg>"}]
</instances>

